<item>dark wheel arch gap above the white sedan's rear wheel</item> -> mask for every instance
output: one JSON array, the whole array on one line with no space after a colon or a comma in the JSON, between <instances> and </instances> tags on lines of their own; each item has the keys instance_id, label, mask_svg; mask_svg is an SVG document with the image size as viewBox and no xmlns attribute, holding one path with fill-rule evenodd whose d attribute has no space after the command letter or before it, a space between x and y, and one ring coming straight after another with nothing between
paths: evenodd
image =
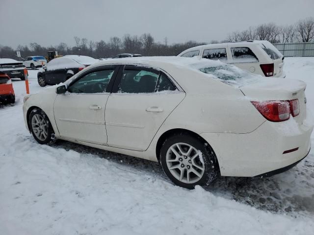
<instances>
[{"instance_id":1,"label":"dark wheel arch gap above the white sedan's rear wheel","mask_svg":"<svg viewBox=\"0 0 314 235\"><path fill-rule=\"evenodd\" d=\"M218 159L217 159L217 156L216 156L216 153L214 151L214 149L211 147L210 143L208 141L206 141L203 137L201 137L199 134L193 132L193 131L190 131L190 130L187 130L187 129L182 129L182 128L175 128L175 129L170 129L170 130L167 130L166 132L164 132L158 139L157 141L157 144L156 144L156 157L157 157L157 161L160 162L160 149L161 149L161 146L163 144L163 142L170 136L172 135L175 135L175 134L187 134L187 135L190 135L204 143L207 143L209 148L214 152L214 156L215 156L215 160L218 164L218 169L220 169L219 167L219 162L218 162ZM220 170L219 170L220 172Z\"/></svg>"}]
</instances>

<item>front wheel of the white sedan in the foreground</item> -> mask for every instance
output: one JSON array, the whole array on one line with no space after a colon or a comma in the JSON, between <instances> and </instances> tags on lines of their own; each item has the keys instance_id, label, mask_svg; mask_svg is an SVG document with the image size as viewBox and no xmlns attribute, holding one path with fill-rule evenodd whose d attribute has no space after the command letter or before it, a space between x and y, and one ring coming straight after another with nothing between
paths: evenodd
<instances>
[{"instance_id":1,"label":"front wheel of the white sedan in the foreground","mask_svg":"<svg viewBox=\"0 0 314 235\"><path fill-rule=\"evenodd\" d=\"M51 122L41 109L35 108L30 112L28 125L31 134L38 143L51 144L55 141Z\"/></svg>"}]
</instances>

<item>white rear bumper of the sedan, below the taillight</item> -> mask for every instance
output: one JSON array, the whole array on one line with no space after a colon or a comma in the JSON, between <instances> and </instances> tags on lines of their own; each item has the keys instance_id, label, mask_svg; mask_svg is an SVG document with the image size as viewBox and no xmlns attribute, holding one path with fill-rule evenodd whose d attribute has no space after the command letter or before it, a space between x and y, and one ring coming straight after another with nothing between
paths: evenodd
<instances>
[{"instance_id":1,"label":"white rear bumper of the sedan, below the taillight","mask_svg":"<svg viewBox=\"0 0 314 235\"><path fill-rule=\"evenodd\" d=\"M261 176L288 169L310 151L313 125L295 124L291 128L291 123L265 121L251 133L202 133L201 136L215 151L221 175ZM284 153L295 148L298 149Z\"/></svg>"}]
</instances>

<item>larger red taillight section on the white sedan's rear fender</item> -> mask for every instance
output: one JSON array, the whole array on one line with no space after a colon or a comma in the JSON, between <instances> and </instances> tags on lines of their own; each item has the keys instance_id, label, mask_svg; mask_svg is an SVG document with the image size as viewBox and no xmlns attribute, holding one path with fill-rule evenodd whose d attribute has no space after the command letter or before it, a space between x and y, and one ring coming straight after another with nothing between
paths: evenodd
<instances>
[{"instance_id":1,"label":"larger red taillight section on the white sedan's rear fender","mask_svg":"<svg viewBox=\"0 0 314 235\"><path fill-rule=\"evenodd\" d=\"M269 121L285 121L290 118L289 101L252 101L252 104Z\"/></svg>"}]
</instances>

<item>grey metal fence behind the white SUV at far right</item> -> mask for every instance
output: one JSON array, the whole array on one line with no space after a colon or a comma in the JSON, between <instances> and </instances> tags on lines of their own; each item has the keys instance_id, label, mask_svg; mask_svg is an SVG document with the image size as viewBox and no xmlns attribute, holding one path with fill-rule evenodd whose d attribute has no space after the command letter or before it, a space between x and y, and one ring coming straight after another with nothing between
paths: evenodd
<instances>
[{"instance_id":1,"label":"grey metal fence behind the white SUV at far right","mask_svg":"<svg viewBox=\"0 0 314 235\"><path fill-rule=\"evenodd\" d=\"M275 43L284 56L314 56L314 43Z\"/></svg>"}]
</instances>

